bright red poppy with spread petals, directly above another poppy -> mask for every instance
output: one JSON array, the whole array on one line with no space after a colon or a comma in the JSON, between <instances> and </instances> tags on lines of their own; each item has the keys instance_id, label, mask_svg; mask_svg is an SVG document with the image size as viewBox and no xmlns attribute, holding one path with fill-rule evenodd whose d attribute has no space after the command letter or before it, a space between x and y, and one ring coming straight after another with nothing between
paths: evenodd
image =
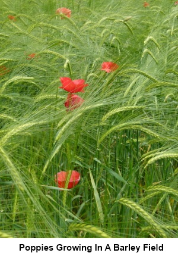
<instances>
[{"instance_id":1,"label":"bright red poppy with spread petals, directly above another poppy","mask_svg":"<svg viewBox=\"0 0 178 256\"><path fill-rule=\"evenodd\" d=\"M69 77L60 77L60 79L62 86L59 88L64 89L67 92L84 92L84 87L88 86L83 79L72 80Z\"/></svg>"}]
</instances>

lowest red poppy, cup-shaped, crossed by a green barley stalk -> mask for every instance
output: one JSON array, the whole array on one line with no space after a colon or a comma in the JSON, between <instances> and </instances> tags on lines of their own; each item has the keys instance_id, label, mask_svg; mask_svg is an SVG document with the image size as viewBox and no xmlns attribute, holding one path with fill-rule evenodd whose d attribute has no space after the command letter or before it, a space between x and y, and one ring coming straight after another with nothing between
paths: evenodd
<instances>
[{"instance_id":1,"label":"lowest red poppy, cup-shaped, crossed by a green barley stalk","mask_svg":"<svg viewBox=\"0 0 178 256\"><path fill-rule=\"evenodd\" d=\"M58 185L58 188L65 188L65 182L66 182L66 177L68 175L69 171L60 171L57 173L57 179L55 175L55 182L56 185ZM80 181L80 173L78 171L72 171L69 184L68 184L68 189L74 188Z\"/></svg>"}]
</instances>

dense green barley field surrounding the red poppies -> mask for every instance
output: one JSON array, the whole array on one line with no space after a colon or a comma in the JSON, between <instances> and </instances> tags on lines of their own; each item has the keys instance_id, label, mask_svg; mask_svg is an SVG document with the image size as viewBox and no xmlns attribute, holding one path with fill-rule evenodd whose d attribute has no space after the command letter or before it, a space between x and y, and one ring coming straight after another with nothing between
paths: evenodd
<instances>
[{"instance_id":1,"label":"dense green barley field surrounding the red poppies","mask_svg":"<svg viewBox=\"0 0 178 256\"><path fill-rule=\"evenodd\" d=\"M178 5L149 3L0 0L0 236L178 237Z\"/></svg>"}]
</instances>

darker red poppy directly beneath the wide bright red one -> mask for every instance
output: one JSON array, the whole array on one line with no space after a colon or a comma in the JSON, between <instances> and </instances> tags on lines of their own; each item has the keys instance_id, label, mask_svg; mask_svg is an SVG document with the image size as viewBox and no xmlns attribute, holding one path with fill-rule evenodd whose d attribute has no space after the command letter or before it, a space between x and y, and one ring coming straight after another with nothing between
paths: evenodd
<instances>
[{"instance_id":1,"label":"darker red poppy directly beneath the wide bright red one","mask_svg":"<svg viewBox=\"0 0 178 256\"><path fill-rule=\"evenodd\" d=\"M64 105L66 108L69 108L69 110L75 110L75 108L80 107L83 102L84 99L82 99L80 96L68 93L68 97L66 98Z\"/></svg>"}]
</instances>

